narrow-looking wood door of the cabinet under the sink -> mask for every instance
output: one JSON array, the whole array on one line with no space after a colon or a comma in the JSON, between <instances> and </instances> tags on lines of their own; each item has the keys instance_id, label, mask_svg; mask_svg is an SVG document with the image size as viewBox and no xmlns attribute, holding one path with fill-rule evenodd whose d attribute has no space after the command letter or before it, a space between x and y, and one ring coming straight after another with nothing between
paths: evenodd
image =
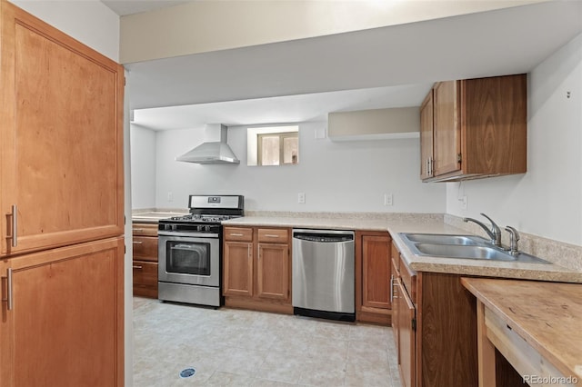
<instances>
[{"instance_id":1,"label":"narrow-looking wood door of the cabinet under the sink","mask_svg":"<svg viewBox=\"0 0 582 387\"><path fill-rule=\"evenodd\" d=\"M400 379L404 387L416 385L416 309L400 280L398 294L398 359Z\"/></svg>"}]
</instances>

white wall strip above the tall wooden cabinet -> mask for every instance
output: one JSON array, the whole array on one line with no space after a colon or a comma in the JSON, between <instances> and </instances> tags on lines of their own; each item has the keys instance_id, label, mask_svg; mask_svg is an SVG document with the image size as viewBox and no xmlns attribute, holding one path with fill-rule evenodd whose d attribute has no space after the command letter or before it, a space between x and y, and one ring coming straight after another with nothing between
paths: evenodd
<instances>
[{"instance_id":1,"label":"white wall strip above the tall wooden cabinet","mask_svg":"<svg viewBox=\"0 0 582 387\"><path fill-rule=\"evenodd\" d=\"M119 62L119 16L100 1L10 0L10 2Z\"/></svg>"}]
</instances>

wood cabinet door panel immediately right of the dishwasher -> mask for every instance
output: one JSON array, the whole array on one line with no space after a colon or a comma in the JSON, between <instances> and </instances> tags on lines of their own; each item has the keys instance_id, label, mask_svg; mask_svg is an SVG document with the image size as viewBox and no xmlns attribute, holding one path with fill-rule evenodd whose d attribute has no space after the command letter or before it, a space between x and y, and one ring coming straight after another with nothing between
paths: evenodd
<instances>
[{"instance_id":1,"label":"wood cabinet door panel immediately right of the dishwasher","mask_svg":"<svg viewBox=\"0 0 582 387\"><path fill-rule=\"evenodd\" d=\"M362 306L390 309L390 237L362 236Z\"/></svg>"}]
</instances>

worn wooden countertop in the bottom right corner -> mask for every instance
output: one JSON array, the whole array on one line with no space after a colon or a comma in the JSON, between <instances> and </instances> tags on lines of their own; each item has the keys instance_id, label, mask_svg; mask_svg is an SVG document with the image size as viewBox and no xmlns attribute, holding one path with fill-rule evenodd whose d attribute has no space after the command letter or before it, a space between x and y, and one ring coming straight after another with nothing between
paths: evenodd
<instances>
[{"instance_id":1,"label":"worn wooden countertop in the bottom right corner","mask_svg":"<svg viewBox=\"0 0 582 387\"><path fill-rule=\"evenodd\" d=\"M560 372L582 382L582 284L488 278L461 281Z\"/></svg>"}]
</instances>

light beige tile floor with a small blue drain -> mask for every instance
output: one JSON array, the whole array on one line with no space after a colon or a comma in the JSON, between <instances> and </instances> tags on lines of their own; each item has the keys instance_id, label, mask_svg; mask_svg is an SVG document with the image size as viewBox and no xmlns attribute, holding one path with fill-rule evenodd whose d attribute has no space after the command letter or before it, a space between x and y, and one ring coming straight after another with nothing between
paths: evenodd
<instances>
[{"instance_id":1,"label":"light beige tile floor with a small blue drain","mask_svg":"<svg viewBox=\"0 0 582 387\"><path fill-rule=\"evenodd\" d=\"M135 297L134 347L135 387L400 386L390 327Z\"/></svg>"}]
</instances>

